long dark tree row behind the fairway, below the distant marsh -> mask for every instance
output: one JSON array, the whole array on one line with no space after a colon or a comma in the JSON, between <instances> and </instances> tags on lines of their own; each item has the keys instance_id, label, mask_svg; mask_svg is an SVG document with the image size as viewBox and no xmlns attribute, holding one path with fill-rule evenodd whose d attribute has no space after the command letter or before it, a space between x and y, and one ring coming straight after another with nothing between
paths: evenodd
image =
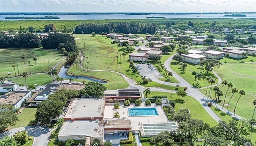
<instances>
[{"instance_id":1,"label":"long dark tree row behind the fairway, below the distant marsh","mask_svg":"<svg viewBox=\"0 0 256 146\"><path fill-rule=\"evenodd\" d=\"M87 33L95 32L100 34L106 33L140 33L140 34L154 34L156 32L156 23L134 23L134 22L120 22L120 23L84 23L76 26L74 33Z\"/></svg>"}]
</instances>

